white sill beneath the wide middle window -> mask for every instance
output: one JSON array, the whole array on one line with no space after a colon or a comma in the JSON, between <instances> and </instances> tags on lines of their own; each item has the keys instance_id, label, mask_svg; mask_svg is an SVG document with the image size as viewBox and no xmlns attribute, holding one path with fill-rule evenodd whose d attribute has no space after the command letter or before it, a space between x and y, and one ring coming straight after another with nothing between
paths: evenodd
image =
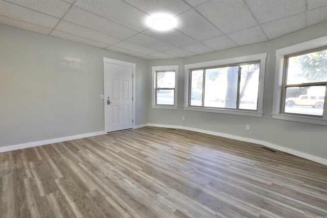
<instances>
[{"instance_id":1,"label":"white sill beneath the wide middle window","mask_svg":"<svg viewBox=\"0 0 327 218\"><path fill-rule=\"evenodd\" d=\"M224 113L224 114L232 114L232 115L240 115L240 116L254 116L254 117L262 117L263 113L258 111L243 111L243 110L228 110L228 109L214 109L214 108L198 108L198 107L184 107L184 110L191 111L201 111L201 112L209 112L209 113Z\"/></svg>"}]
</instances>

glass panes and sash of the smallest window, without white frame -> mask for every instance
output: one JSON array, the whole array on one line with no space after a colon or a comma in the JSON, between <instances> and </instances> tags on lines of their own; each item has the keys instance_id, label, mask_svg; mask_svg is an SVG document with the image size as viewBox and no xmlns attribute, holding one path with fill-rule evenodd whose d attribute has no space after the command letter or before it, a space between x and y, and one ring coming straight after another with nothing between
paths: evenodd
<instances>
[{"instance_id":1,"label":"glass panes and sash of the smallest window, without white frame","mask_svg":"<svg viewBox=\"0 0 327 218\"><path fill-rule=\"evenodd\" d=\"M155 77L155 105L174 105L175 71L156 71Z\"/></svg>"}]
</instances>

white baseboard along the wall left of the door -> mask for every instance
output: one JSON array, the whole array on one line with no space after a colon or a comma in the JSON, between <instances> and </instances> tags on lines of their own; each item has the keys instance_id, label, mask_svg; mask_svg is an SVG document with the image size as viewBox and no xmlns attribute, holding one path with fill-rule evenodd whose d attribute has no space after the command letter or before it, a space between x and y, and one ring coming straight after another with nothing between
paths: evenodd
<instances>
[{"instance_id":1,"label":"white baseboard along the wall left of the door","mask_svg":"<svg viewBox=\"0 0 327 218\"><path fill-rule=\"evenodd\" d=\"M29 143L16 144L14 146L7 146L7 147L0 148L0 153L19 150L19 149L27 149L27 148L36 147L36 146L44 146L45 144L69 141L69 140L92 137L92 136L103 135L103 134L106 134L106 132L104 132L104 131L92 132L92 133L86 133L86 134L81 134L81 135L73 135L73 136L66 136L66 137L61 137L61 138L53 138L53 139L42 140L42 141L34 141L34 142L29 142Z\"/></svg>"}]
</instances>

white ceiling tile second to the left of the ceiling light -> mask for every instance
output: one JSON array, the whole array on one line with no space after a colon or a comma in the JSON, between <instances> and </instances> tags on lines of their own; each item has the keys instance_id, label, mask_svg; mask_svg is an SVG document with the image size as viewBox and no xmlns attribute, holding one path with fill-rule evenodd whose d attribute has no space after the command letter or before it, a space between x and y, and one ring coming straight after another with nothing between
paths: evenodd
<instances>
[{"instance_id":1,"label":"white ceiling tile second to the left of the ceiling light","mask_svg":"<svg viewBox=\"0 0 327 218\"><path fill-rule=\"evenodd\" d=\"M72 7L64 17L65 20L121 39L129 38L138 32L119 25L113 21L92 14L78 7Z\"/></svg>"}]
</instances>

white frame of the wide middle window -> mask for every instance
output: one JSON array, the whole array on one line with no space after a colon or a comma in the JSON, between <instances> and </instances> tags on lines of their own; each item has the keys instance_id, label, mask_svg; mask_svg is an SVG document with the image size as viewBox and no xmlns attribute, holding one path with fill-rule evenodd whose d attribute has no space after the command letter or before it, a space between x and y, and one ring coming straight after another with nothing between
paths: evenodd
<instances>
[{"instance_id":1,"label":"white frame of the wide middle window","mask_svg":"<svg viewBox=\"0 0 327 218\"><path fill-rule=\"evenodd\" d=\"M264 83L265 83L265 71L266 71L266 59L268 53L261 53L255 55L247 55L235 58L227 58L215 61L206 61L194 64L186 64L185 67L185 90L184 90L184 110L202 111L209 113L224 113L234 114L242 116L263 116L263 101L264 101ZM246 62L260 61L260 76L259 76L259 89L258 89L258 109L256 111L245 111L241 109L225 109L225 108L206 108L206 107L193 107L189 103L190 98L190 69L232 65Z\"/></svg>"}]
</instances>

